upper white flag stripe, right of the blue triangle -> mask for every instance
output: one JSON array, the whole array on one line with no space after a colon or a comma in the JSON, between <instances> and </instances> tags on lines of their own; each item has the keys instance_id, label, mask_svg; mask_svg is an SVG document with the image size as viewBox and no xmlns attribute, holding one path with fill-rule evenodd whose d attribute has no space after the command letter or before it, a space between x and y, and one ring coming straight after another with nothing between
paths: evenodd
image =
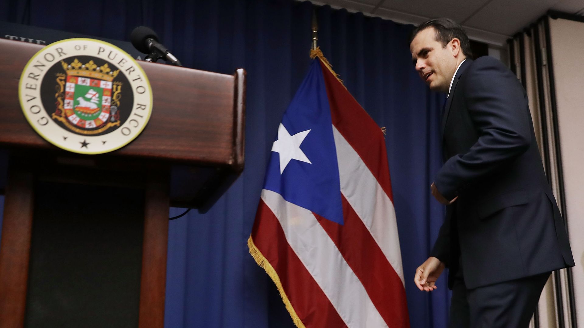
<instances>
[{"instance_id":1,"label":"upper white flag stripe, right of the blue triangle","mask_svg":"<svg viewBox=\"0 0 584 328\"><path fill-rule=\"evenodd\" d=\"M394 204L345 137L334 125L332 130L339 162L340 191L404 284Z\"/></svg>"}]
</instances>

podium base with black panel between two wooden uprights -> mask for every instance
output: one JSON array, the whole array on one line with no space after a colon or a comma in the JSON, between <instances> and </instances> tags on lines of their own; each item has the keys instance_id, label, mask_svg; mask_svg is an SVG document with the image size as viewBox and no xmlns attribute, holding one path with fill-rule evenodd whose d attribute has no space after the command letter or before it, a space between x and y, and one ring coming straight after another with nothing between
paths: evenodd
<instances>
[{"instance_id":1,"label":"podium base with black panel between two wooden uprights","mask_svg":"<svg viewBox=\"0 0 584 328\"><path fill-rule=\"evenodd\" d=\"M168 170L11 164L0 328L162 328Z\"/></svg>"}]
</instances>

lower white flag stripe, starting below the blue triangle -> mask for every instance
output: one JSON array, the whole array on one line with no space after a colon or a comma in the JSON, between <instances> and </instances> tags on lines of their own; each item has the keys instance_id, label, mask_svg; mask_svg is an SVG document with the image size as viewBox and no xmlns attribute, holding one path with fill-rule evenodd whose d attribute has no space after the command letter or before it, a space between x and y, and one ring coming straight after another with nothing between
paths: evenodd
<instances>
[{"instance_id":1,"label":"lower white flag stripe, starting below the blue triangle","mask_svg":"<svg viewBox=\"0 0 584 328\"><path fill-rule=\"evenodd\" d=\"M359 278L311 211L262 190L286 240L349 328L387 327Z\"/></svg>"}]
</instances>

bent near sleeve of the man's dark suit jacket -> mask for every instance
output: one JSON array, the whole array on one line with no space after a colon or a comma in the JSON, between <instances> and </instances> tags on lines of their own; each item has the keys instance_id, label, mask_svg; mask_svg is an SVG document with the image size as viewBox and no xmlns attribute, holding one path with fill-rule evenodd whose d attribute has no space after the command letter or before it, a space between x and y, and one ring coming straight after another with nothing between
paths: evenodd
<instances>
[{"instance_id":1,"label":"bent near sleeve of the man's dark suit jacket","mask_svg":"<svg viewBox=\"0 0 584 328\"><path fill-rule=\"evenodd\" d=\"M437 189L449 200L462 187L502 169L531 144L527 99L516 76L489 57L479 58L465 73L461 91L479 138L436 175Z\"/></svg>"}]
</instances>

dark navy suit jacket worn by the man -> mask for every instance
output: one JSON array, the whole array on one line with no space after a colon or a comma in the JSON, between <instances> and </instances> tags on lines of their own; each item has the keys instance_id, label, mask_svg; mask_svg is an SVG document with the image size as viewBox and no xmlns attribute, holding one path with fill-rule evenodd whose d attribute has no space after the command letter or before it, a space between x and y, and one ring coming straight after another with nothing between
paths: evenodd
<instances>
[{"instance_id":1,"label":"dark navy suit jacket worn by the man","mask_svg":"<svg viewBox=\"0 0 584 328\"><path fill-rule=\"evenodd\" d=\"M464 270L467 288L574 266L545 177L527 95L492 57L458 69L442 118L445 163L434 180L451 200L430 255ZM459 259L460 257L460 259Z\"/></svg>"}]
</instances>

